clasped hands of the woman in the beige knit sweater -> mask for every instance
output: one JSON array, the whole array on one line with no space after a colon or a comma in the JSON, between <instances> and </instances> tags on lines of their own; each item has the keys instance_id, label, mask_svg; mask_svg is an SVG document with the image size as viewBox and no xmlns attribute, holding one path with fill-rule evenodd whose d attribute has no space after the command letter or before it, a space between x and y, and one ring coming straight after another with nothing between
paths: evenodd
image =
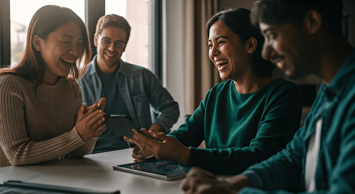
<instances>
[{"instance_id":1,"label":"clasped hands of the woman in the beige knit sweater","mask_svg":"<svg viewBox=\"0 0 355 194\"><path fill-rule=\"evenodd\" d=\"M100 103L95 103L88 108L84 105L80 107L75 127L83 141L101 135L105 129L103 117L105 104L106 99L101 98Z\"/></svg>"}]
</instances>

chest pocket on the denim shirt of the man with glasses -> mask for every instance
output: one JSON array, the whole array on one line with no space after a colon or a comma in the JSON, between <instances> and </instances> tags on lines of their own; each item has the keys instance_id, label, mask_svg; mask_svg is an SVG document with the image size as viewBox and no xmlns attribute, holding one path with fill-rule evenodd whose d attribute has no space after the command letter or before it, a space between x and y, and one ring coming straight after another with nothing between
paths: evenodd
<instances>
[{"instance_id":1,"label":"chest pocket on the denim shirt of the man with glasses","mask_svg":"<svg viewBox=\"0 0 355 194\"><path fill-rule=\"evenodd\" d=\"M132 96L132 104L137 117L151 116L147 93Z\"/></svg>"}]
</instances>

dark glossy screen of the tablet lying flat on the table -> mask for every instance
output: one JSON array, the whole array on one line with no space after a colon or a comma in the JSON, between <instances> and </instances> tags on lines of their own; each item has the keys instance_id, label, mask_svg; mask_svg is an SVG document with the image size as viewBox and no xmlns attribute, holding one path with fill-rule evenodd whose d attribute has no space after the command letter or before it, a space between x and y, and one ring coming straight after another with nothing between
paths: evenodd
<instances>
[{"instance_id":1,"label":"dark glossy screen of the tablet lying flat on the table","mask_svg":"<svg viewBox=\"0 0 355 194\"><path fill-rule=\"evenodd\" d=\"M118 166L137 171L160 174L163 176L186 174L191 168L186 164L178 162L160 161L158 159L149 159L141 162L122 164Z\"/></svg>"}]
</instances>

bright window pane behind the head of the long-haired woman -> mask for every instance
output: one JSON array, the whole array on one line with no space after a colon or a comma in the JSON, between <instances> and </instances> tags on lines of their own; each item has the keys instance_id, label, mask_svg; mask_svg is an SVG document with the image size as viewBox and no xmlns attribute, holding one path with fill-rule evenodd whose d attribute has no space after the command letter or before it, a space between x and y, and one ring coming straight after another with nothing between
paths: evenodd
<instances>
[{"instance_id":1,"label":"bright window pane behind the head of the long-haired woman","mask_svg":"<svg viewBox=\"0 0 355 194\"><path fill-rule=\"evenodd\" d=\"M15 65L22 56L29 22L40 7L44 5L68 7L85 21L84 2L84 0L10 0L11 66Z\"/></svg>"}]
</instances>

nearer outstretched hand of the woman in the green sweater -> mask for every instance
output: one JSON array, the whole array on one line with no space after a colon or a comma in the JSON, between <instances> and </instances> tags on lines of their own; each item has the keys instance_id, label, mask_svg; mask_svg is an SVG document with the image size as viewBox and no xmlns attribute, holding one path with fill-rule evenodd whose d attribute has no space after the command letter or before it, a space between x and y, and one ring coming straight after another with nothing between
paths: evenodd
<instances>
[{"instance_id":1,"label":"nearer outstretched hand of the woman in the green sweater","mask_svg":"<svg viewBox=\"0 0 355 194\"><path fill-rule=\"evenodd\" d=\"M141 131L145 132L144 130L146 131L146 129L142 129ZM163 140L163 142L160 142L143 135L135 129L132 129L132 131L135 132L135 136L133 138L124 137L124 139L125 141L132 142L139 147L140 152L137 154L142 155L142 153L151 153L159 160L180 162L185 164L189 163L190 148L182 145L182 143L174 137L166 136L162 132L148 132L150 136ZM132 157L134 154L135 153L133 151ZM137 154L136 156L138 156ZM138 157L138 159L142 158Z\"/></svg>"}]
</instances>

